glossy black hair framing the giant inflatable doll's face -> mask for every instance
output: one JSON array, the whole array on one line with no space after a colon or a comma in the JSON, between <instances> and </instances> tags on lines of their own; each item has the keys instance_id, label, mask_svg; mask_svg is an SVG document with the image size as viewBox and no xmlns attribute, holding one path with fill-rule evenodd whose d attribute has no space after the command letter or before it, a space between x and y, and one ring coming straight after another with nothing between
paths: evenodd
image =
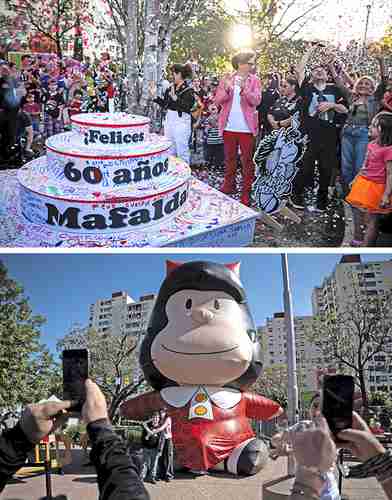
<instances>
[{"instance_id":1,"label":"glossy black hair framing the giant inflatable doll's face","mask_svg":"<svg viewBox=\"0 0 392 500\"><path fill-rule=\"evenodd\" d=\"M234 389L244 389L253 384L261 373L262 353L252 315L249 311L245 290L237 275L223 264L215 262L187 262L174 269L164 280L151 313L147 334L140 348L140 365L150 385L157 390L178 385L165 377L153 364L151 345L155 337L168 324L166 303L180 290L226 292L239 304L247 332L253 343L252 361L247 371L236 380L226 384ZM224 335L224 332L222 332Z\"/></svg>"}]
</instances>

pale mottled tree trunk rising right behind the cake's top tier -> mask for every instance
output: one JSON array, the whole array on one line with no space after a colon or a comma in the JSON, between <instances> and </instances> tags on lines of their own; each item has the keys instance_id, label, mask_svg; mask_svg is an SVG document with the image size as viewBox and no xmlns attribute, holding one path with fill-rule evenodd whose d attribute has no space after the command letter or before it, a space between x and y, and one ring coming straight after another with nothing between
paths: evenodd
<instances>
[{"instance_id":1,"label":"pale mottled tree trunk rising right behind the cake's top tier","mask_svg":"<svg viewBox=\"0 0 392 500\"><path fill-rule=\"evenodd\" d=\"M140 109L143 114L148 114L151 97L150 88L157 86L158 82L158 28L159 28L159 0L146 0L146 24L144 31L143 52L143 85L140 98Z\"/></svg>"}]
</instances>

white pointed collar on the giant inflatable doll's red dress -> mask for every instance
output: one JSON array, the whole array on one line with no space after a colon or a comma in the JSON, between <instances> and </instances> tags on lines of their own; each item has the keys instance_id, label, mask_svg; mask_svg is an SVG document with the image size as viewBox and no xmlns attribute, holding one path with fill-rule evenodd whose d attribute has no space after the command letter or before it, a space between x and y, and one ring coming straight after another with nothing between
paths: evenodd
<instances>
[{"instance_id":1,"label":"white pointed collar on the giant inflatable doll's red dress","mask_svg":"<svg viewBox=\"0 0 392 500\"><path fill-rule=\"evenodd\" d=\"M164 401L175 408L185 406L196 394L198 390L207 393L211 401L219 408L228 410L241 401L242 394L236 389L229 387L219 387L215 385L187 385L166 387L160 394Z\"/></svg>"}]
</instances>

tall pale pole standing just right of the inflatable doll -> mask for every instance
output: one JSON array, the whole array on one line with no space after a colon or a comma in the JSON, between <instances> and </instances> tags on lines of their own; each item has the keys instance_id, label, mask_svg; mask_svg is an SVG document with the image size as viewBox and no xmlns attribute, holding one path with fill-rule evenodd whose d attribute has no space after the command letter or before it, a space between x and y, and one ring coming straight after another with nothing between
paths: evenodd
<instances>
[{"instance_id":1,"label":"tall pale pole standing just right of the inflatable doll","mask_svg":"<svg viewBox=\"0 0 392 500\"><path fill-rule=\"evenodd\" d=\"M283 275L283 303L284 318L287 335L287 416L289 426L294 425L298 416L298 386L297 386L297 361L295 349L295 330L293 316L293 301L291 298L289 267L287 254L282 254L282 275ZM288 456L287 474L295 474L295 459L293 455Z\"/></svg>"}]
</instances>

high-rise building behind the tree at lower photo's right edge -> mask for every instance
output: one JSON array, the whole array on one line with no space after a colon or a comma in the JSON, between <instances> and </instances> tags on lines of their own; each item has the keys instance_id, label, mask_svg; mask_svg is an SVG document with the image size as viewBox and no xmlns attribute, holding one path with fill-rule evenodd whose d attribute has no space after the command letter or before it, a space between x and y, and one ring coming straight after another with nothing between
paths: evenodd
<instances>
[{"instance_id":1,"label":"high-rise building behind the tree at lower photo's right edge","mask_svg":"<svg viewBox=\"0 0 392 500\"><path fill-rule=\"evenodd\" d=\"M362 262L360 255L344 255L332 274L324 279L320 287L313 290L313 314L329 316L350 311L356 298L383 297L390 291L392 260ZM365 372L371 392L392 390L391 353L392 336L386 336L383 352L373 356Z\"/></svg>"}]
</instances>

